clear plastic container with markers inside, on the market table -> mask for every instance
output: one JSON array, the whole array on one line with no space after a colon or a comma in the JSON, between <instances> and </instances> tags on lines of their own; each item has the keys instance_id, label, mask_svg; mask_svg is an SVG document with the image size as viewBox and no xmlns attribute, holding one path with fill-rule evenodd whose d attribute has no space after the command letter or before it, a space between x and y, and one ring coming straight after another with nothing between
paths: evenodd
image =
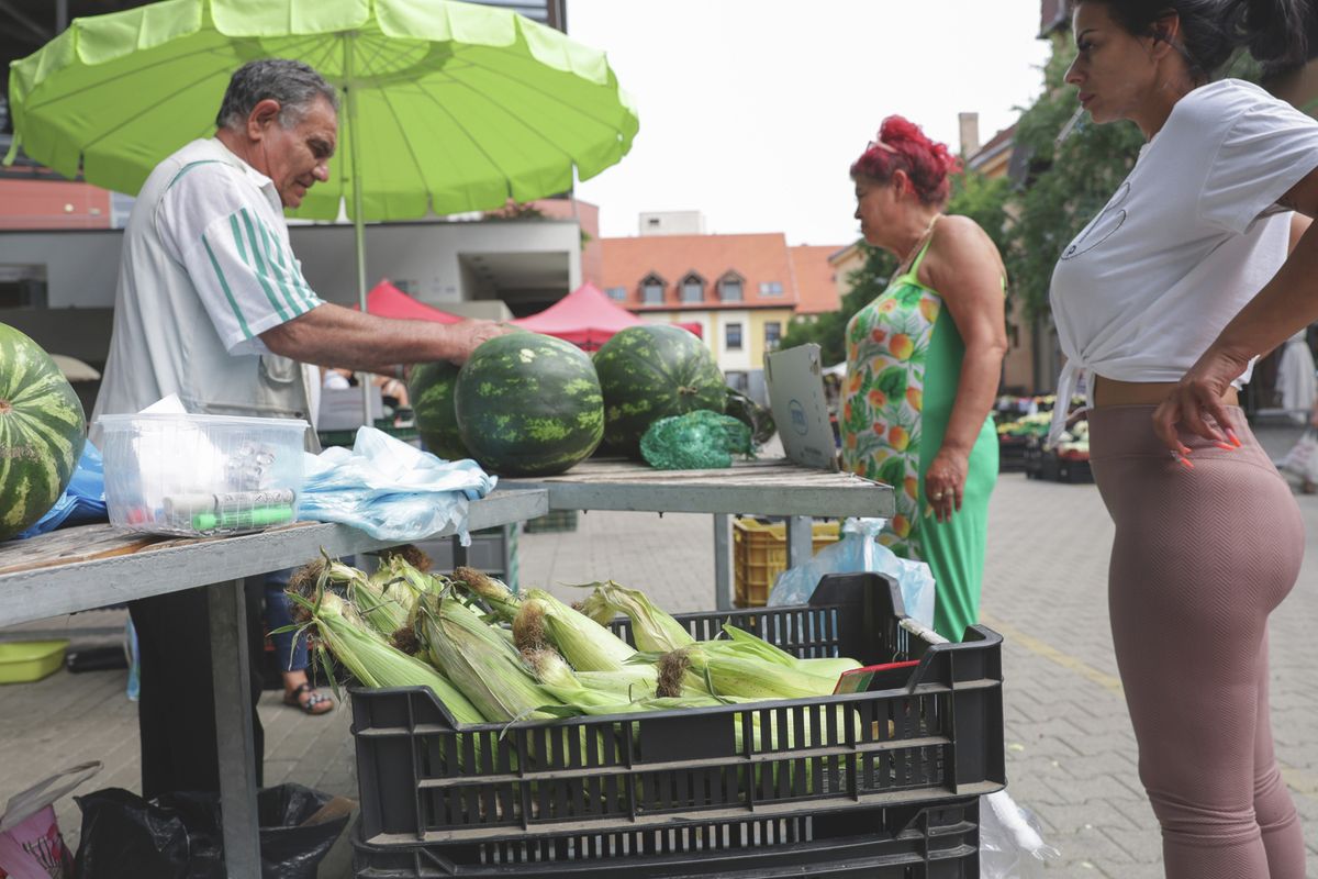
<instances>
[{"instance_id":1,"label":"clear plastic container with markers inside, on the market table","mask_svg":"<svg viewBox=\"0 0 1318 879\"><path fill-rule=\"evenodd\" d=\"M298 518L303 420L137 414L96 423L116 527L210 536Z\"/></svg>"}]
</instances>

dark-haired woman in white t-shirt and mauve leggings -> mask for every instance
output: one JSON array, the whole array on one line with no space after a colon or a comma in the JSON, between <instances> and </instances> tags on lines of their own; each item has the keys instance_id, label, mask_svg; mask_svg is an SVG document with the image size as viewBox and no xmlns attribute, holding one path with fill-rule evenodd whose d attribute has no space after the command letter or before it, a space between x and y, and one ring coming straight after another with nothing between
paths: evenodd
<instances>
[{"instance_id":1,"label":"dark-haired woman in white t-shirt and mauve leggings","mask_svg":"<svg viewBox=\"0 0 1318 879\"><path fill-rule=\"evenodd\" d=\"M1234 370L1193 386L1211 394L1215 430L1195 435L1190 416L1191 432L1160 439L1152 416L1282 264L1281 278L1318 270L1318 236L1288 261L1289 210L1318 210L1318 123L1256 86L1210 82L1238 45L1265 67L1302 63L1310 17L1302 0L1079 0L1074 12L1068 82L1095 123L1131 120L1148 144L1053 274L1058 395L1086 378L1094 477L1116 525L1112 640L1173 879L1305 875L1273 756L1267 637L1304 526L1231 386L1267 345L1227 348ZM1304 320L1318 316L1310 287L1292 287L1310 303Z\"/></svg>"}]
</instances>

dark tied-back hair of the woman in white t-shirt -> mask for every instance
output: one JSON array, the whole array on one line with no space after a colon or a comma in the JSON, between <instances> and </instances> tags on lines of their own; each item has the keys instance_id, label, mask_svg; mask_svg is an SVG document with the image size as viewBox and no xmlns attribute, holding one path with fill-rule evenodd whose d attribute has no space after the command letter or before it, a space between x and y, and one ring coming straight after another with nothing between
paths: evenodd
<instances>
[{"instance_id":1,"label":"dark tied-back hair of the woman in white t-shirt","mask_svg":"<svg viewBox=\"0 0 1318 879\"><path fill-rule=\"evenodd\" d=\"M1264 76L1294 70L1309 57L1313 0L1081 0L1102 3L1127 33L1157 34L1155 24L1181 20L1181 54L1190 75L1205 82L1246 46L1263 63Z\"/></svg>"}]
</instances>

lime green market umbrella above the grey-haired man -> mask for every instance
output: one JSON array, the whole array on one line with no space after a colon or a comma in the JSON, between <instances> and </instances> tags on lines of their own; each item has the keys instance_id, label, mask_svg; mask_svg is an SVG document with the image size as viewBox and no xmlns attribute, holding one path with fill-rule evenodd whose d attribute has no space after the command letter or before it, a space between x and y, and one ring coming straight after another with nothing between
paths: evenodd
<instances>
[{"instance_id":1,"label":"lime green market umbrella above the grey-haired man","mask_svg":"<svg viewBox=\"0 0 1318 879\"><path fill-rule=\"evenodd\" d=\"M447 0L165 0L75 18L11 65L14 146L136 194L215 130L229 76L295 58L341 94L331 178L290 216L484 211L564 192L621 159L637 113L602 51L507 9Z\"/></svg>"}]
</instances>

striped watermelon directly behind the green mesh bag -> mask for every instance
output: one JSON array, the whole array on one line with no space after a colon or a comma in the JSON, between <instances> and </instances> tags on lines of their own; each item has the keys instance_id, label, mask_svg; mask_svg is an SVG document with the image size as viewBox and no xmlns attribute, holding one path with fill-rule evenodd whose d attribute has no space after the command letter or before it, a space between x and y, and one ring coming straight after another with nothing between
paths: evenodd
<instances>
[{"instance_id":1,"label":"striped watermelon directly behind the green mesh bag","mask_svg":"<svg viewBox=\"0 0 1318 879\"><path fill-rule=\"evenodd\" d=\"M728 383L695 333L671 324L627 327L594 354L604 389L604 441L641 457L641 438L660 418L722 412Z\"/></svg>"}]
</instances>

